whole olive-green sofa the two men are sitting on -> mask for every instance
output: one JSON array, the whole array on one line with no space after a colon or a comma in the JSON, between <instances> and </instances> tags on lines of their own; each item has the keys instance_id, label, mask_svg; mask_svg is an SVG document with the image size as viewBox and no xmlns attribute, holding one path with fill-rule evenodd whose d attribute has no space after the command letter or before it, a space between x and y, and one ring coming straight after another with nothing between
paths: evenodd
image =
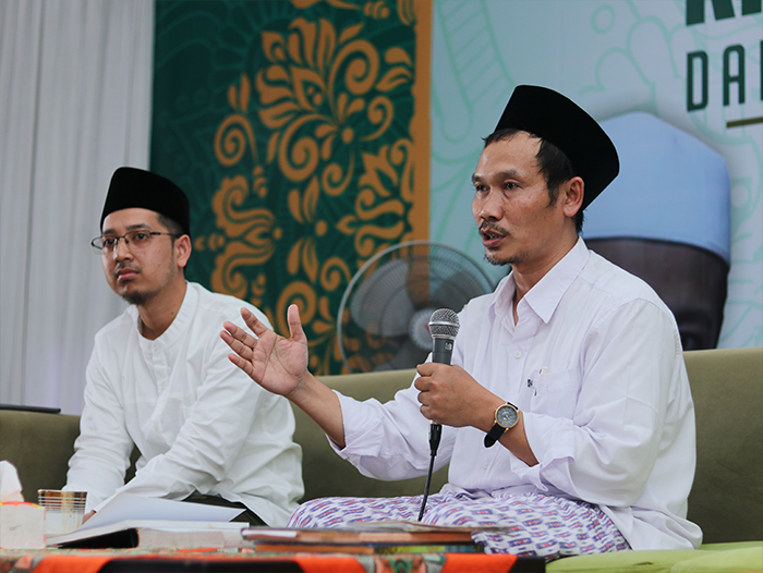
<instances>
[{"instance_id":1,"label":"whole olive-green sofa the two men are sitting on","mask_svg":"<svg viewBox=\"0 0 763 573\"><path fill-rule=\"evenodd\" d=\"M697 409L698 467L689 519L704 532L699 550L625 551L565 558L547 571L715 572L763 571L763 348L685 353ZM413 370L327 376L329 387L358 399L386 401L410 385ZM405 496L424 478L378 481L337 456L326 437L296 411L295 439L303 450L304 499L327 496ZM78 434L78 417L0 411L0 460L19 470L24 498L60 488ZM447 480L433 478L432 491Z\"/></svg>"}]
</instances>

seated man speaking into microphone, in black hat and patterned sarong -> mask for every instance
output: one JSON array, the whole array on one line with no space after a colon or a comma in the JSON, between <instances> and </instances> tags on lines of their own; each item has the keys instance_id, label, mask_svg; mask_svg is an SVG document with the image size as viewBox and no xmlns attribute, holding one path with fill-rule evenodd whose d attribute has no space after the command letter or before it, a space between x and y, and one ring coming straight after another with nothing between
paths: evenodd
<instances>
[{"instance_id":1,"label":"seated man speaking into microphone, in black hat and patterned sarong","mask_svg":"<svg viewBox=\"0 0 763 573\"><path fill-rule=\"evenodd\" d=\"M670 310L641 279L589 251L582 210L617 175L617 151L566 97L519 86L472 176L485 255L511 273L459 313L452 364L417 366L386 404L331 391L307 370L295 306L290 338L250 310L257 338L225 322L231 362L287 397L335 450L379 479L426 474L429 420L448 484L423 523L477 532L488 552L565 554L698 547L687 521L694 410ZM415 520L420 497L319 499L300 527Z\"/></svg>"}]
</instances>

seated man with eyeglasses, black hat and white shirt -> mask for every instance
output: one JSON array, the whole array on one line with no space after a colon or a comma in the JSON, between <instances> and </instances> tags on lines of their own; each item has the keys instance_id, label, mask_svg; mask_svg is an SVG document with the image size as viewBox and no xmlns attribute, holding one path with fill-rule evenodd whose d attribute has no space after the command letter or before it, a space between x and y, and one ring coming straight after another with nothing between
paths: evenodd
<instances>
[{"instance_id":1,"label":"seated man with eyeglasses, black hat and white shirt","mask_svg":"<svg viewBox=\"0 0 763 573\"><path fill-rule=\"evenodd\" d=\"M286 399L228 362L218 329L240 316L242 301L185 280L185 194L160 175L120 168L92 245L131 306L96 334L65 489L87 491L88 514L129 492L286 524L304 489L294 417ZM125 484L134 447L141 456Z\"/></svg>"}]
</instances>

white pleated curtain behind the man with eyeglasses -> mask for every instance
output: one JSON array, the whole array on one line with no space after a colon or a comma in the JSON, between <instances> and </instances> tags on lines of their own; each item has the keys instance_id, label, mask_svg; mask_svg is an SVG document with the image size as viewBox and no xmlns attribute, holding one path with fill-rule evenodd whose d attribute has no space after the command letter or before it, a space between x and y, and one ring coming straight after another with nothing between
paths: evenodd
<instances>
[{"instance_id":1,"label":"white pleated curtain behind the man with eyeglasses","mask_svg":"<svg viewBox=\"0 0 763 573\"><path fill-rule=\"evenodd\" d=\"M146 168L153 0L0 0L0 403L82 411L124 305L88 245L109 179Z\"/></svg>"}]
</instances>

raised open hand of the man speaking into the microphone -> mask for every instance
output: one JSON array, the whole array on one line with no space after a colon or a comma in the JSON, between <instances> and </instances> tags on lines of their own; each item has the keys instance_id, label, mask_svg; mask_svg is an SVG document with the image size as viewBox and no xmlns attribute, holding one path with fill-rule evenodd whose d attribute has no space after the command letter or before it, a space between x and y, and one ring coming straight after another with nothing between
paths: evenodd
<instances>
[{"instance_id":1,"label":"raised open hand of the man speaking into the microphone","mask_svg":"<svg viewBox=\"0 0 763 573\"><path fill-rule=\"evenodd\" d=\"M241 309L241 316L256 338L225 322L220 338L233 351L229 359L266 390L289 398L307 371L307 338L296 305L287 310L288 339L276 334L246 308Z\"/></svg>"}]
</instances>

